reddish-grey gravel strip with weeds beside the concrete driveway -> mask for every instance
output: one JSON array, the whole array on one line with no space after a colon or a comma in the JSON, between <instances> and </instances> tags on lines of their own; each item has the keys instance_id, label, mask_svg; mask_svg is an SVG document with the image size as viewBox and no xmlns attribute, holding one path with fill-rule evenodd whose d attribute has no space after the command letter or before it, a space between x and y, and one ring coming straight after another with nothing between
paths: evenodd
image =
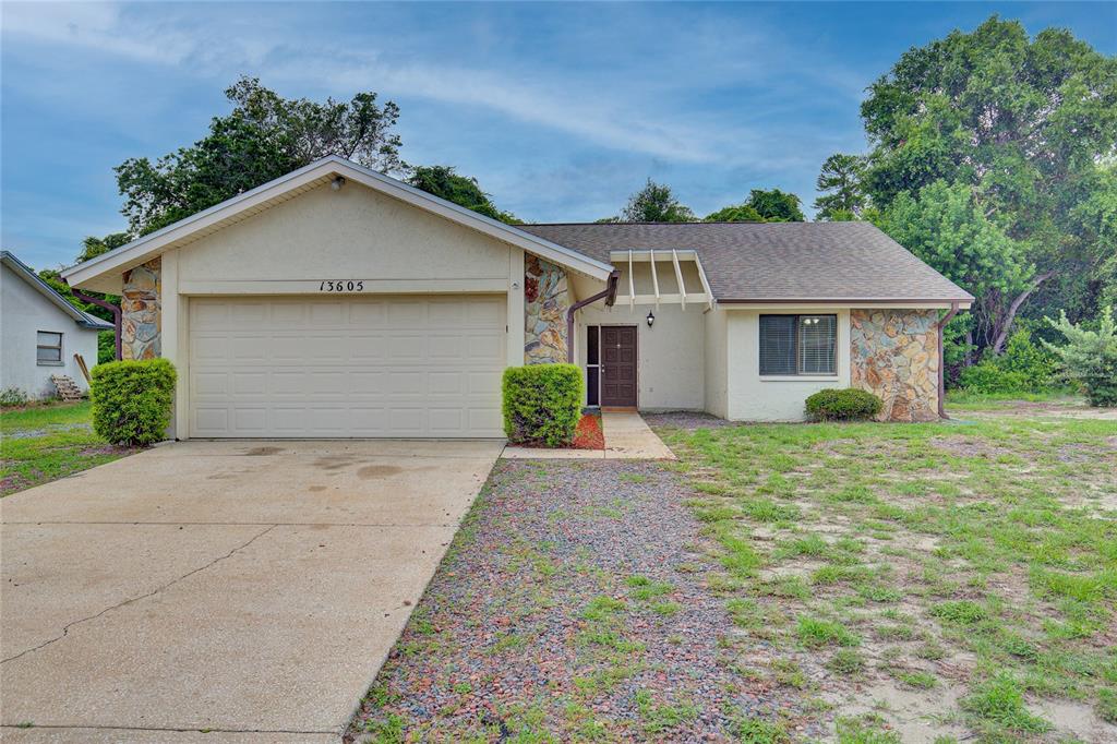
<instances>
[{"instance_id":1,"label":"reddish-grey gravel strip with weeds beside the concrete driveway","mask_svg":"<svg viewBox=\"0 0 1117 744\"><path fill-rule=\"evenodd\" d=\"M346 741L724 741L777 713L794 726L795 690L751 681L726 649L688 495L655 462L498 462Z\"/></svg>"}]
</instances>

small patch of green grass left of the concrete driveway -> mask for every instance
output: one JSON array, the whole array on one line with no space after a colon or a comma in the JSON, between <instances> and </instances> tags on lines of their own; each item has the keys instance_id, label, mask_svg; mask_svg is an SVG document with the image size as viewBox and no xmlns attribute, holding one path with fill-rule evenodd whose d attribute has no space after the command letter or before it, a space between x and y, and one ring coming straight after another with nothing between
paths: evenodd
<instances>
[{"instance_id":1,"label":"small patch of green grass left of the concrete driveway","mask_svg":"<svg viewBox=\"0 0 1117 744\"><path fill-rule=\"evenodd\" d=\"M93 432L90 407L49 403L0 411L0 496L111 462L135 451Z\"/></svg>"}]
</instances>

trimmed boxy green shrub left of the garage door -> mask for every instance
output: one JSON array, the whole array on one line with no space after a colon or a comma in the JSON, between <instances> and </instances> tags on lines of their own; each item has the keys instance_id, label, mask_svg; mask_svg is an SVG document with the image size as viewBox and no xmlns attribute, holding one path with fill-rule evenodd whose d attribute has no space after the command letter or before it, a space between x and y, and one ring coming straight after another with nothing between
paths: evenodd
<instances>
[{"instance_id":1,"label":"trimmed boxy green shrub left of the garage door","mask_svg":"<svg viewBox=\"0 0 1117 744\"><path fill-rule=\"evenodd\" d=\"M114 445L152 445L163 439L174 402L174 365L165 359L93 368L93 429Z\"/></svg>"}]
</instances>

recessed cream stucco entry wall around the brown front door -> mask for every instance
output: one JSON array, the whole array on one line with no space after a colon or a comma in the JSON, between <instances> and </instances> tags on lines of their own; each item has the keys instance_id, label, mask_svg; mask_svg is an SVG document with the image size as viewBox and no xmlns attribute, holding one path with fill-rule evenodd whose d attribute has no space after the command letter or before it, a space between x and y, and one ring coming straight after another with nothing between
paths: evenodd
<instances>
[{"instance_id":1,"label":"recessed cream stucco entry wall around the brown front door","mask_svg":"<svg viewBox=\"0 0 1117 744\"><path fill-rule=\"evenodd\" d=\"M577 362L585 369L586 325L637 326L637 401L640 410L694 410L705 408L705 307L660 305L656 323L648 327L648 305L605 308L594 303L577 314L574 332ZM607 371L608 374L608 371Z\"/></svg>"}]
</instances>

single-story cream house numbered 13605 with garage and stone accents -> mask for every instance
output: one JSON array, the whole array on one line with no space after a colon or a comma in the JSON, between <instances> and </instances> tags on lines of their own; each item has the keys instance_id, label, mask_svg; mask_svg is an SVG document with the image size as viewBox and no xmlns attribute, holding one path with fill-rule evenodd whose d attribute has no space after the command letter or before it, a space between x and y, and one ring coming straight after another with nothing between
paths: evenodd
<instances>
[{"instance_id":1,"label":"single-story cream house numbered 13605 with garage and stone accents","mask_svg":"<svg viewBox=\"0 0 1117 744\"><path fill-rule=\"evenodd\" d=\"M973 297L871 225L508 226L327 158L64 276L180 373L174 436L498 437L500 373L588 404L795 420L822 388L937 417Z\"/></svg>"}]
</instances>

